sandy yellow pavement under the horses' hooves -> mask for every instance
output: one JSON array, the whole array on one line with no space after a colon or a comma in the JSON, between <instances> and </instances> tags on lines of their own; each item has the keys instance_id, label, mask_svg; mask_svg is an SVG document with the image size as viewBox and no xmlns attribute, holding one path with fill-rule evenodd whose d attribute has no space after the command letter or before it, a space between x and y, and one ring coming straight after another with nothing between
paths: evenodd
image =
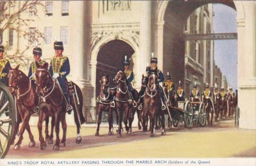
<instances>
[{"instance_id":1,"label":"sandy yellow pavement under the horses' hooves","mask_svg":"<svg viewBox=\"0 0 256 166\"><path fill-rule=\"evenodd\" d=\"M137 127L133 127L131 134L122 133L121 138L117 138L116 133L109 136L106 124L100 128L100 136L94 136L96 125L84 125L80 144L75 143L76 128L71 125L66 147L59 151L54 151L52 144L40 150L37 127L31 126L31 130L35 147L28 147L25 132L21 149L14 150L12 145L6 158L256 158L256 130L238 129L232 118L190 129L181 123L167 130L166 135L155 130L154 137Z\"/></svg>"}]
</instances>

